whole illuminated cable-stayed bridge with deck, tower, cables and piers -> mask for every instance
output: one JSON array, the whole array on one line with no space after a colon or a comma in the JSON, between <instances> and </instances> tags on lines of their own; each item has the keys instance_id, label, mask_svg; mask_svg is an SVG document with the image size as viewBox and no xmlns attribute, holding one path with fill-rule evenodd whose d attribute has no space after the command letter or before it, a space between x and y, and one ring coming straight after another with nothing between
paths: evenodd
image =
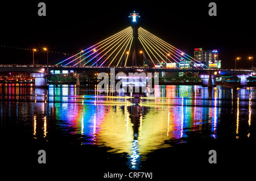
<instances>
[{"instance_id":1,"label":"whole illuminated cable-stayed bridge with deck, tower, cables and piers","mask_svg":"<svg viewBox=\"0 0 256 181\"><path fill-rule=\"evenodd\" d=\"M246 85L246 78L255 75L253 70L210 69L208 65L189 56L158 36L137 27L140 16L133 12L132 26L115 33L89 47L77 50L72 56L53 61L53 65L1 66L0 71L27 71L35 77L36 86L46 86L47 76L55 71L74 73L79 80L81 71L144 71L144 72L198 72L203 84L212 87L214 77L233 74L241 78L241 85ZM47 60L48 62L48 60ZM78 81L79 82L79 81Z\"/></svg>"}]
</instances>

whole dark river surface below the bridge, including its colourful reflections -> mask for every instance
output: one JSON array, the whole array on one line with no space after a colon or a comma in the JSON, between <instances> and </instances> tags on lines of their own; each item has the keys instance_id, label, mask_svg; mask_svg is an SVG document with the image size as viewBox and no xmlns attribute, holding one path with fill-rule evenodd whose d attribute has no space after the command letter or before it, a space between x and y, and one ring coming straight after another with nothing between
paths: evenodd
<instances>
[{"instance_id":1,"label":"whole dark river surface below the bridge, including its colourful reflections","mask_svg":"<svg viewBox=\"0 0 256 181\"><path fill-rule=\"evenodd\" d=\"M22 173L36 168L65 178L72 169L75 177L107 180L107 172L146 171L159 180L240 172L255 161L253 87L158 86L138 98L73 85L0 88L1 164ZM46 150L46 164L38 150ZM217 163L209 163L209 150Z\"/></svg>"}]
</instances>

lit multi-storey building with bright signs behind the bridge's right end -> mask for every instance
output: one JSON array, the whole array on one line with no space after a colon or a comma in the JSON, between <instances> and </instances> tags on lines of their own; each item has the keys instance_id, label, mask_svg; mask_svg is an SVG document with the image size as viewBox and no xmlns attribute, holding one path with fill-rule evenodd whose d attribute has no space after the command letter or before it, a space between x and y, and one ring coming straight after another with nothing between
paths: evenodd
<instances>
[{"instance_id":1,"label":"lit multi-storey building with bright signs behind the bridge's right end","mask_svg":"<svg viewBox=\"0 0 256 181\"><path fill-rule=\"evenodd\" d=\"M221 60L218 59L218 50L203 50L203 48L194 49L195 59L201 64L195 66L206 66L206 68L221 68Z\"/></svg>"}]
</instances>

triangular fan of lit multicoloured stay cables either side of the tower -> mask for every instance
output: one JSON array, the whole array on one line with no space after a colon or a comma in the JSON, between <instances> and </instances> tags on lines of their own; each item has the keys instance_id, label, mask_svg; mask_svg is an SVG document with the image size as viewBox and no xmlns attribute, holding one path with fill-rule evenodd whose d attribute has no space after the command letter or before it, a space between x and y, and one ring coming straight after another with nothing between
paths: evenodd
<instances>
[{"instance_id":1,"label":"triangular fan of lit multicoloured stay cables either side of the tower","mask_svg":"<svg viewBox=\"0 0 256 181\"><path fill-rule=\"evenodd\" d=\"M138 28L138 37L132 27L127 27L105 40L80 50L56 65L90 67L131 67L180 69L187 65L190 69L209 68L207 65L195 66L200 61L182 52L152 33Z\"/></svg>"}]
</instances>

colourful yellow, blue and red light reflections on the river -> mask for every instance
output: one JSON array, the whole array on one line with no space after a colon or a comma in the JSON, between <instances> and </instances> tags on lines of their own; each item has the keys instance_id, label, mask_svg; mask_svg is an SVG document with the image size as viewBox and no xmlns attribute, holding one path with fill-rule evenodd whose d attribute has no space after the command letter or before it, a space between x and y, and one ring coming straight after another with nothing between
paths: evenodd
<instances>
[{"instance_id":1,"label":"colourful yellow, blue and red light reflections on the river","mask_svg":"<svg viewBox=\"0 0 256 181\"><path fill-rule=\"evenodd\" d=\"M1 128L7 121L24 125L35 140L51 144L76 135L80 145L125 154L130 169L140 169L148 153L173 146L170 141L185 144L191 137L225 137L218 129L229 124L226 113L230 119L236 117L229 125L234 129L226 132L237 139L250 138L255 120L256 91L251 88L159 86L154 95L141 98L97 96L94 89L76 86L1 85L0 90ZM77 137L64 141L77 144Z\"/></svg>"}]
</instances>

